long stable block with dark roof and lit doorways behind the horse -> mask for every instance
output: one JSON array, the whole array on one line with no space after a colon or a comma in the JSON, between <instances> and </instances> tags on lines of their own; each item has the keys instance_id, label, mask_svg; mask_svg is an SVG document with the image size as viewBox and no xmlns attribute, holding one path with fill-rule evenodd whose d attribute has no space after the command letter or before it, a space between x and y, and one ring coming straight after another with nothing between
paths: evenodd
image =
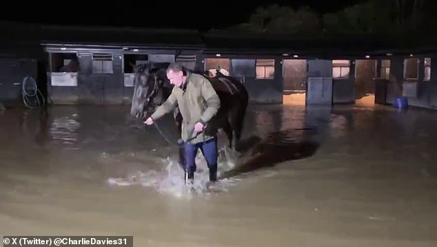
<instances>
[{"instance_id":1,"label":"long stable block with dark roof and lit doorways behind the horse","mask_svg":"<svg viewBox=\"0 0 437 247\"><path fill-rule=\"evenodd\" d=\"M199 33L193 30L41 25L54 104L130 104L132 65L181 61L196 70L221 69L239 78L251 103L391 105L436 108L436 58L392 39L290 39L287 36ZM405 39L407 40L407 39ZM38 58L41 60L41 58ZM5 71L5 70L3 70ZM19 85L17 85L18 87Z\"/></svg>"}]
</instances>

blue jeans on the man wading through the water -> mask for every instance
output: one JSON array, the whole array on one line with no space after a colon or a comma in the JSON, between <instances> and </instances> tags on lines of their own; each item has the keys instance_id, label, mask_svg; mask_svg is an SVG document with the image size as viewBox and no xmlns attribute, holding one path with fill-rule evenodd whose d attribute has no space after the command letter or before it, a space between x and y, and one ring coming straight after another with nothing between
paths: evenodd
<instances>
[{"instance_id":1,"label":"blue jeans on the man wading through the water","mask_svg":"<svg viewBox=\"0 0 437 247\"><path fill-rule=\"evenodd\" d=\"M203 157L205 157L208 169L210 169L210 181L217 180L217 137L214 137L205 142L198 143L186 143L183 147L184 151L184 167L185 171L188 173L188 179L194 179L194 172L196 171L196 153L197 150L201 149Z\"/></svg>"}]
</instances>

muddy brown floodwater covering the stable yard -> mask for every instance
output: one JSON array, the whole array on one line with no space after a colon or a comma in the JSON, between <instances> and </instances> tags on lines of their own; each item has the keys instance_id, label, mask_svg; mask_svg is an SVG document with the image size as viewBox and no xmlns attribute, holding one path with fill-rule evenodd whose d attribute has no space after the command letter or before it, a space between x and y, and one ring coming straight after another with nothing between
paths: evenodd
<instances>
[{"instance_id":1,"label":"muddy brown floodwater covering the stable yard","mask_svg":"<svg viewBox=\"0 0 437 247\"><path fill-rule=\"evenodd\" d=\"M128 113L1 113L0 232L133 235L134 246L437 246L436 111L251 106L240 156L221 151L222 180L208 190L204 162L184 190L177 150ZM170 118L159 127L176 142Z\"/></svg>"}]
</instances>

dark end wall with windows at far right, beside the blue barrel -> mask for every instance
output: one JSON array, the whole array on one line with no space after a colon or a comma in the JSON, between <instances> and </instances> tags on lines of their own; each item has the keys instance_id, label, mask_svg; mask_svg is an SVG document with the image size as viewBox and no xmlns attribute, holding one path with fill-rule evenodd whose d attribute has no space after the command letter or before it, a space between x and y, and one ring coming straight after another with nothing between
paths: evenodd
<instances>
[{"instance_id":1,"label":"dark end wall with windows at far right, beside the blue barrel","mask_svg":"<svg viewBox=\"0 0 437 247\"><path fill-rule=\"evenodd\" d=\"M387 104L393 104L399 96L408 96L408 104L415 107L437 109L437 54L412 56L419 58L418 80L404 80L404 58L410 56L392 58L390 81L387 85ZM424 81L425 58L431 58L431 80ZM433 64L434 63L434 64ZM408 84L407 84L408 83ZM409 88L407 89L407 86ZM416 90L416 95L411 95Z\"/></svg>"}]
</instances>

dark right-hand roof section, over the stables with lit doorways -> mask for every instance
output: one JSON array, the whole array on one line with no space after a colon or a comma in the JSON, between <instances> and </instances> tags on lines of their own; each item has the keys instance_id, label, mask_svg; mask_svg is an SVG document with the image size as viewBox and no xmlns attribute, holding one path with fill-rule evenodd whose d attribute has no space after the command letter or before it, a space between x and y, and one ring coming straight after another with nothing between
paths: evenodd
<instances>
[{"instance_id":1,"label":"dark right-hand roof section, over the stables with lit doorways","mask_svg":"<svg viewBox=\"0 0 437 247\"><path fill-rule=\"evenodd\" d=\"M272 53L309 54L318 56L363 55L411 52L437 52L437 36L403 34L396 36L342 35L292 36L278 34L204 33L205 53ZM412 39L411 36L418 38ZM420 37L420 38L419 38Z\"/></svg>"}]
</instances>

